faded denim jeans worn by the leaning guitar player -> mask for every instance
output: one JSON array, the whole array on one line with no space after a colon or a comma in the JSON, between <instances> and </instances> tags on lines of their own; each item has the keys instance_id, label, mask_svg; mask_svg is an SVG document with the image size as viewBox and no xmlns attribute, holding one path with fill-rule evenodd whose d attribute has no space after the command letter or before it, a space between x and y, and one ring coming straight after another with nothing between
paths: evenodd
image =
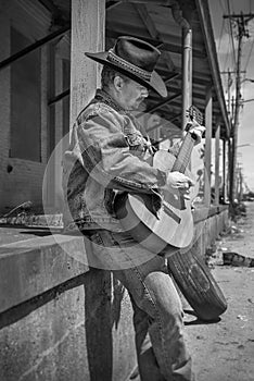
<instances>
[{"instance_id":1,"label":"faded denim jeans worn by the leaning guitar player","mask_svg":"<svg viewBox=\"0 0 254 381\"><path fill-rule=\"evenodd\" d=\"M89 236L92 265L107 268L123 256L129 265L113 273L127 288L134 308L134 327L142 381L193 381L191 358L183 339L183 311L165 259L151 255L127 233L105 230ZM138 256L148 260L140 263ZM94 259L96 258L96 259ZM122 262L123 263L123 262Z\"/></svg>"}]
</instances>

